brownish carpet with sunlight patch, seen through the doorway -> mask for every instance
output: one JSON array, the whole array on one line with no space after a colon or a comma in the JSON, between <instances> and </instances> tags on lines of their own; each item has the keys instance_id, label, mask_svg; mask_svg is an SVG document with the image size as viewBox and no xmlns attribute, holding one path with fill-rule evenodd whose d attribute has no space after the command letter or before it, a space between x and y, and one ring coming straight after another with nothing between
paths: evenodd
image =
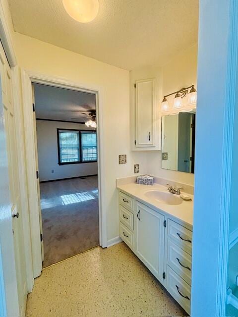
<instances>
[{"instance_id":1,"label":"brownish carpet with sunlight patch, seen through the doorway","mask_svg":"<svg viewBox=\"0 0 238 317\"><path fill-rule=\"evenodd\" d=\"M97 176L40 184L43 267L99 245Z\"/></svg>"}]
</instances>

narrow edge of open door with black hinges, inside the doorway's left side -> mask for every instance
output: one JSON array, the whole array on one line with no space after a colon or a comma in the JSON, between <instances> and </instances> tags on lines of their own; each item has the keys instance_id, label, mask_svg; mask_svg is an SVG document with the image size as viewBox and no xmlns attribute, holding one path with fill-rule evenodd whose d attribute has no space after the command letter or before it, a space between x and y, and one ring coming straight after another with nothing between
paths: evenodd
<instances>
[{"instance_id":1,"label":"narrow edge of open door with black hinges, inside the doorway's left side","mask_svg":"<svg viewBox=\"0 0 238 317\"><path fill-rule=\"evenodd\" d=\"M38 192L38 205L39 205L39 221L40 221L40 237L41 237L41 256L42 262L44 261L44 242L43 242L43 225L41 213L41 192L40 192L40 177L39 177L39 163L37 151L37 132L36 132L36 111L35 111L35 93L34 86L32 85L32 101L33 101L33 122L34 122L34 138L35 138L35 157L36 157L36 173L37 173L37 192Z\"/></svg>"}]
</instances>

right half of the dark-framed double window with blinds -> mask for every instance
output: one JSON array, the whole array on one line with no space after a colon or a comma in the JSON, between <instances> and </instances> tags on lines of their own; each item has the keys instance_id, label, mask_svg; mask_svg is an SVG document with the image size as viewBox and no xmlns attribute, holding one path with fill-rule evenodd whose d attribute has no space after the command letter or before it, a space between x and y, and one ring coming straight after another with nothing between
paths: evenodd
<instances>
[{"instance_id":1,"label":"right half of the dark-framed double window with blinds","mask_svg":"<svg viewBox=\"0 0 238 317\"><path fill-rule=\"evenodd\" d=\"M81 131L82 161L97 160L96 131Z\"/></svg>"}]
</instances>

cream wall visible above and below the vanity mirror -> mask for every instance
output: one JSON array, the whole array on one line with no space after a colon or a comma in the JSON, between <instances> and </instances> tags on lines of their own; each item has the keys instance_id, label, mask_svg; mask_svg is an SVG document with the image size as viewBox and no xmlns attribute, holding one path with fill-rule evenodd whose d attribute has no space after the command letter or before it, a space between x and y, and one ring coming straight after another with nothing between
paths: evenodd
<instances>
[{"instance_id":1,"label":"cream wall visible above and below the vanity mirror","mask_svg":"<svg viewBox=\"0 0 238 317\"><path fill-rule=\"evenodd\" d=\"M184 50L162 67L162 76L163 95L192 84L197 87L197 45ZM194 174L162 169L161 151L147 152L147 172L176 182L194 184Z\"/></svg>"}]
</instances>

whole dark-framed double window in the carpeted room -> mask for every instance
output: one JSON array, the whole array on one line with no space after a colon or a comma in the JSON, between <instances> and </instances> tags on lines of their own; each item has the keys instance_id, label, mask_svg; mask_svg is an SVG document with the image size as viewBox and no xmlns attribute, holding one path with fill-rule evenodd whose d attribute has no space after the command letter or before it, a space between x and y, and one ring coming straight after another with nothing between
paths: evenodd
<instances>
[{"instance_id":1,"label":"whole dark-framed double window in the carpeted room","mask_svg":"<svg viewBox=\"0 0 238 317\"><path fill-rule=\"evenodd\" d=\"M59 164L97 161L96 131L57 129Z\"/></svg>"}]
</instances>

